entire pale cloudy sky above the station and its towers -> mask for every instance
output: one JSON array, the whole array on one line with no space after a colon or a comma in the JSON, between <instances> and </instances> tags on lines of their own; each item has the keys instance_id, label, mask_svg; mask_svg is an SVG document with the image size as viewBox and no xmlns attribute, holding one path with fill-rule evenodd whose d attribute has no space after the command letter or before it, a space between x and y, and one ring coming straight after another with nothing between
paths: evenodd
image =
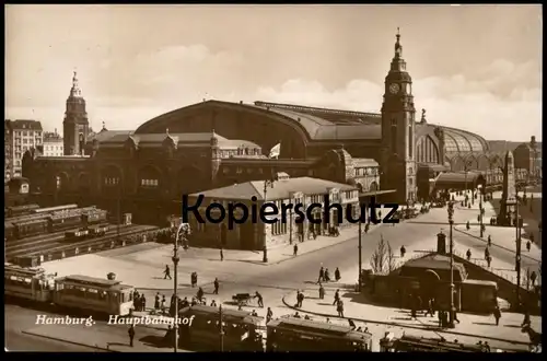
<instances>
[{"instance_id":1,"label":"entire pale cloudy sky above the station and its towers","mask_svg":"<svg viewBox=\"0 0 547 361\"><path fill-rule=\"evenodd\" d=\"M540 5L5 5L5 118L62 132L202 98L380 113L400 27L415 105L488 140L542 139Z\"/></svg>"}]
</instances>

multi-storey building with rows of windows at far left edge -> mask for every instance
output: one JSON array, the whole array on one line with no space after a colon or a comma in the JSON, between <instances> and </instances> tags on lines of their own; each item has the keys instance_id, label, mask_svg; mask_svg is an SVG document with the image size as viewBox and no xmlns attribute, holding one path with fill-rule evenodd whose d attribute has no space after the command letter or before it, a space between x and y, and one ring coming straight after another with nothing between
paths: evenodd
<instances>
[{"instance_id":1,"label":"multi-storey building with rows of windows at far left edge","mask_svg":"<svg viewBox=\"0 0 547 361\"><path fill-rule=\"evenodd\" d=\"M42 124L37 120L4 120L4 178L22 175L23 155L42 147Z\"/></svg>"}]
</instances>

